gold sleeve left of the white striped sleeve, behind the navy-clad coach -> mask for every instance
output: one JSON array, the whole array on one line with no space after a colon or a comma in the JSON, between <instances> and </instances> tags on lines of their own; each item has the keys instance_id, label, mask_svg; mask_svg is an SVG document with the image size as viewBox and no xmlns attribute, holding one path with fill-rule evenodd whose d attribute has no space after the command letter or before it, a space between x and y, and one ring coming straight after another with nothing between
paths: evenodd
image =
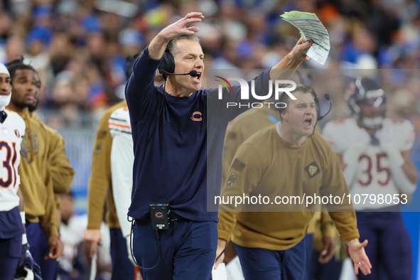
<instances>
[{"instance_id":1,"label":"gold sleeve left of the white striped sleeve, behind the navy-clad coach","mask_svg":"<svg viewBox=\"0 0 420 280\"><path fill-rule=\"evenodd\" d=\"M126 107L124 100L107 109L99 122L92 155L92 168L89 180L89 195L87 204L87 228L101 228L105 199L107 199L107 222L109 228L120 228L117 210L112 197L111 180L111 147L112 136L109 132L109 117L122 107Z\"/></svg>"}]
</instances>

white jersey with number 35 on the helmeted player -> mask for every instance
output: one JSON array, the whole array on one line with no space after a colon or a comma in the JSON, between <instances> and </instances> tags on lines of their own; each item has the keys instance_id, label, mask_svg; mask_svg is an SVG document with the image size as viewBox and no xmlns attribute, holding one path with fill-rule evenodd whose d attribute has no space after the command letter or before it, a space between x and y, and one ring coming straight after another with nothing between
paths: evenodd
<instances>
[{"instance_id":1,"label":"white jersey with number 35 on the helmeted player","mask_svg":"<svg viewBox=\"0 0 420 280\"><path fill-rule=\"evenodd\" d=\"M409 121L384 119L382 128L377 134L383 131L392 136L392 144L401 152L411 149L414 144L414 126ZM352 145L354 135L359 133L367 134L367 131L360 128L355 119L328 122L323 129L323 137L337 154L343 154ZM400 192L392 181L387 154L379 144L374 145L371 142L360 155L355 179L348 187L352 198L356 195L357 199L361 199L360 202L354 201L355 210L379 209L393 205L389 203L390 198L394 198L394 194L399 195ZM372 200L366 196L370 194L375 195L372 196ZM388 195L387 203L374 203L381 194L384 199Z\"/></svg>"}]
</instances>

